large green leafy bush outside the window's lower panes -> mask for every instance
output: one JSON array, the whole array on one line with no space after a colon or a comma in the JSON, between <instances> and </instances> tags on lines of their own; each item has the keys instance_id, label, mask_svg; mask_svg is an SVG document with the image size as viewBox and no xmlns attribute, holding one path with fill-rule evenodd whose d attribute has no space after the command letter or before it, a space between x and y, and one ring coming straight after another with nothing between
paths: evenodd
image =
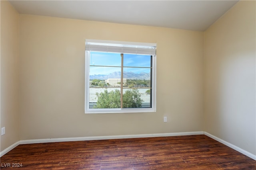
<instances>
[{"instance_id":1,"label":"large green leafy bush outside the window's lower panes","mask_svg":"<svg viewBox=\"0 0 256 170\"><path fill-rule=\"evenodd\" d=\"M104 92L96 93L98 97L97 104L94 108L120 108L120 90L104 90ZM143 100L140 98L139 90L126 90L123 94L123 108L141 107Z\"/></svg>"}]
</instances>

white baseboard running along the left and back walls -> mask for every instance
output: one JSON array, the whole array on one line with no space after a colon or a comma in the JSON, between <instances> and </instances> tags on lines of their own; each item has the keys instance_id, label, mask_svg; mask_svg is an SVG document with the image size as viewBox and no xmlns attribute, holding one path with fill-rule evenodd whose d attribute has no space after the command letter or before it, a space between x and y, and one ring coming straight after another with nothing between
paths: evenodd
<instances>
[{"instance_id":1,"label":"white baseboard running along the left and back walls","mask_svg":"<svg viewBox=\"0 0 256 170\"><path fill-rule=\"evenodd\" d=\"M168 136L184 136L184 135L204 135L203 131L197 132L180 132L180 133L154 133L141 135L114 135L114 136L96 136L96 137L71 137L71 138L54 138L54 139L32 139L22 140L14 143L10 147L0 152L0 157L14 149L18 145L33 144L33 143L50 143L50 142L69 142L69 141L92 141L103 139L128 139L128 138L142 138L142 137L168 137Z\"/></svg>"}]
</instances>

